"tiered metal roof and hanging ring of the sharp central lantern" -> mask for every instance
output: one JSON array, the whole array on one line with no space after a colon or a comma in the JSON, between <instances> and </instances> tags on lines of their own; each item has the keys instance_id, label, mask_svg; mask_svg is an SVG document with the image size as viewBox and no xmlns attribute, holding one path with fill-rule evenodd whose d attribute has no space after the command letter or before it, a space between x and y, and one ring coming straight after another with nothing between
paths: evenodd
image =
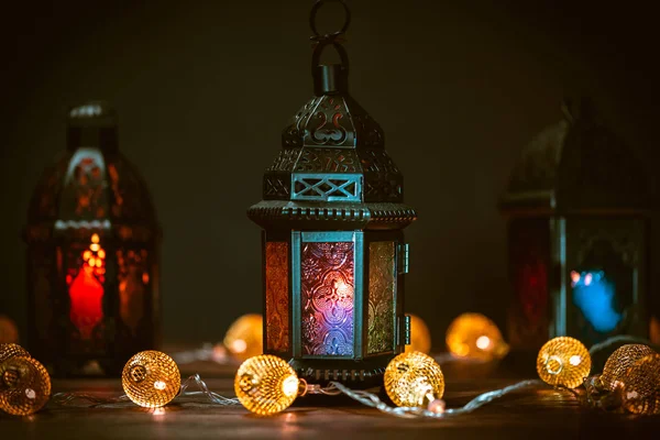
<instances>
[{"instance_id":1,"label":"tiered metal roof and hanging ring of the sharp central lantern","mask_svg":"<svg viewBox=\"0 0 660 440\"><path fill-rule=\"evenodd\" d=\"M248 211L264 228L400 229L417 217L403 204L404 178L381 125L349 94L349 58L339 40L349 21L328 35L312 24L315 96L285 128L279 155L264 174L264 199ZM327 47L340 64L320 64Z\"/></svg>"}]
</instances>

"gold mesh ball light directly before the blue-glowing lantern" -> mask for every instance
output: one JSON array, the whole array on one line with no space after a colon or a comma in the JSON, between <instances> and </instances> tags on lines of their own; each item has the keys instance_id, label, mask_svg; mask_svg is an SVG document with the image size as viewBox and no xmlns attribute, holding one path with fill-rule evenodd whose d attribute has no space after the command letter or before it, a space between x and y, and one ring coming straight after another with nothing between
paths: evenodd
<instances>
[{"instance_id":1,"label":"gold mesh ball light directly before the blue-glowing lantern","mask_svg":"<svg viewBox=\"0 0 660 440\"><path fill-rule=\"evenodd\" d=\"M575 388L591 371L591 356L586 346L569 337L551 339L539 351L537 372L539 377L553 386Z\"/></svg>"}]
</instances>

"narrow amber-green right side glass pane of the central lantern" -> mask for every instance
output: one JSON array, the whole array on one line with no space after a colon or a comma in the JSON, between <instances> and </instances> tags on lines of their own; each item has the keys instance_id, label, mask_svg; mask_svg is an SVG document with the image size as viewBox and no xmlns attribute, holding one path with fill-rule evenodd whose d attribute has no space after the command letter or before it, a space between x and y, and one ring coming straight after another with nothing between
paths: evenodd
<instances>
[{"instance_id":1,"label":"narrow amber-green right side glass pane of the central lantern","mask_svg":"<svg viewBox=\"0 0 660 440\"><path fill-rule=\"evenodd\" d=\"M369 245L369 354L394 350L396 286L394 244L391 241L381 241Z\"/></svg>"}]
</instances>

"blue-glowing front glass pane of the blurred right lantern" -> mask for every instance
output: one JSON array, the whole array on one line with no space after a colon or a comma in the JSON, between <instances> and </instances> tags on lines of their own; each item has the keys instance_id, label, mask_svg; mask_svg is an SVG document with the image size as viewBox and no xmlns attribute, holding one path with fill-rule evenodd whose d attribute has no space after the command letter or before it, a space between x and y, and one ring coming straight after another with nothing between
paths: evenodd
<instances>
[{"instance_id":1,"label":"blue-glowing front glass pane of the blurred right lantern","mask_svg":"<svg viewBox=\"0 0 660 440\"><path fill-rule=\"evenodd\" d=\"M594 243L581 267L570 273L579 336L595 343L625 326L634 302L632 270L606 241ZM618 332L618 331L617 331Z\"/></svg>"}]
</instances>

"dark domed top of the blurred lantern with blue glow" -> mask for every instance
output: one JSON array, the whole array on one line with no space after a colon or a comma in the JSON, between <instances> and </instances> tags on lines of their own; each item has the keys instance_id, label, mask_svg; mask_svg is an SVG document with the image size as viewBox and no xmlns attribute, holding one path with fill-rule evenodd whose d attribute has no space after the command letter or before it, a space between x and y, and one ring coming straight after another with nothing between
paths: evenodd
<instances>
[{"instance_id":1,"label":"dark domed top of the blurred lantern with blue glow","mask_svg":"<svg viewBox=\"0 0 660 440\"><path fill-rule=\"evenodd\" d=\"M647 210L642 164L597 114L593 101L565 100L563 119L522 150L501 200L504 211Z\"/></svg>"}]
</instances>

